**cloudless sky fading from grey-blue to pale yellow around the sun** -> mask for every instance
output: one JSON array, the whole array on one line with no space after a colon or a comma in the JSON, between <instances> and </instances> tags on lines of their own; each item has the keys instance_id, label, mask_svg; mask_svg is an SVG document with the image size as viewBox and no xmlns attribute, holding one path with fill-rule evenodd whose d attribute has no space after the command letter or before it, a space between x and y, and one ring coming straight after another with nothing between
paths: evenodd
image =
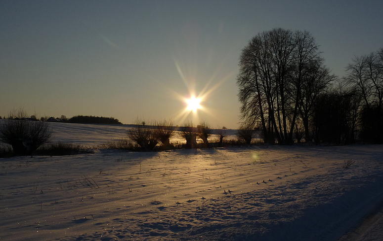
<instances>
[{"instance_id":1,"label":"cloudless sky fading from grey-blue to pale yellow around the sun","mask_svg":"<svg viewBox=\"0 0 383 241\"><path fill-rule=\"evenodd\" d=\"M1 0L0 115L182 124L175 93L210 80L206 90L219 86L198 117L236 128L241 49L278 27L308 30L341 77L353 56L383 47L383 1Z\"/></svg>"}]
</instances>

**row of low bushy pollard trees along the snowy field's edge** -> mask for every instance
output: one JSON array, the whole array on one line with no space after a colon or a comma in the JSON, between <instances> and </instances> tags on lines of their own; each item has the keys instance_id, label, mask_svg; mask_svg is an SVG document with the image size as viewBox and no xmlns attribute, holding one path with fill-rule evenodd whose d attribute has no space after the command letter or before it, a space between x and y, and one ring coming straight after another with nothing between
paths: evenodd
<instances>
[{"instance_id":1,"label":"row of low bushy pollard trees along the snowy field's edge","mask_svg":"<svg viewBox=\"0 0 383 241\"><path fill-rule=\"evenodd\" d=\"M51 137L48 122L25 120L23 110L14 111L14 118L8 118L0 124L0 140L12 146L13 153L16 155L32 155L41 145L48 142ZM130 141L136 143L141 150L153 150L158 144L159 149L174 149L170 143L170 138L174 137L176 131L186 140L185 148L210 147L209 138L213 135L210 127L202 122L197 127L193 127L191 122L184 127L175 127L171 122L162 121L155 125L146 125L145 122L137 122L128 131ZM219 141L214 146L222 146L226 135L226 128L218 129L215 135L219 136ZM197 144L197 137L203 143ZM250 144L254 137L254 130L240 129L238 138L240 142ZM127 142L128 148L133 148Z\"/></svg>"}]
</instances>

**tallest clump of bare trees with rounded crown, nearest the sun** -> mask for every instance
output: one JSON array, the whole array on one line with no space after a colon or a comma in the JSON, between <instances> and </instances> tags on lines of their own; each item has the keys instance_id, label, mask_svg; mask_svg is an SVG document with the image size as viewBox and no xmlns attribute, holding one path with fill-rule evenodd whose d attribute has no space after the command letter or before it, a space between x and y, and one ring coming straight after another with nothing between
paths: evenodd
<instances>
[{"instance_id":1,"label":"tallest clump of bare trees with rounded crown, nearest the sun","mask_svg":"<svg viewBox=\"0 0 383 241\"><path fill-rule=\"evenodd\" d=\"M308 32L273 29L257 34L242 50L237 78L246 126L260 126L264 141L292 143L302 88L312 66L322 67Z\"/></svg>"}]
</instances>

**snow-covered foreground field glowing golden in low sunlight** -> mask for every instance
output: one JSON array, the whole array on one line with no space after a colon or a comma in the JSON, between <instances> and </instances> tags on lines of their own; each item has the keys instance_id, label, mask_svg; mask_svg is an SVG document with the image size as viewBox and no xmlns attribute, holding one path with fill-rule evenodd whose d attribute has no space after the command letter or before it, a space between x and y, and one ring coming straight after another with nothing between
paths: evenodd
<instances>
[{"instance_id":1,"label":"snow-covered foreground field glowing golden in low sunlight","mask_svg":"<svg viewBox=\"0 0 383 241\"><path fill-rule=\"evenodd\" d=\"M85 126L55 138L125 132ZM383 201L383 145L96 150L0 166L0 241L336 241ZM359 240L383 240L377 229Z\"/></svg>"}]
</instances>

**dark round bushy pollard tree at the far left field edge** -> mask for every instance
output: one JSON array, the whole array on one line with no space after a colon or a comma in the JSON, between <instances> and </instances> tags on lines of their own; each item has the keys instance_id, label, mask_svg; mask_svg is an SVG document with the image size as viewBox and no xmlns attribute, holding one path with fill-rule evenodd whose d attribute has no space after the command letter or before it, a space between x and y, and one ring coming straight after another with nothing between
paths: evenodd
<instances>
[{"instance_id":1,"label":"dark round bushy pollard tree at the far left field edge","mask_svg":"<svg viewBox=\"0 0 383 241\"><path fill-rule=\"evenodd\" d=\"M17 155L32 155L51 136L48 123L22 120L26 116L21 109L12 111L0 128L0 140L10 144Z\"/></svg>"}]
</instances>

